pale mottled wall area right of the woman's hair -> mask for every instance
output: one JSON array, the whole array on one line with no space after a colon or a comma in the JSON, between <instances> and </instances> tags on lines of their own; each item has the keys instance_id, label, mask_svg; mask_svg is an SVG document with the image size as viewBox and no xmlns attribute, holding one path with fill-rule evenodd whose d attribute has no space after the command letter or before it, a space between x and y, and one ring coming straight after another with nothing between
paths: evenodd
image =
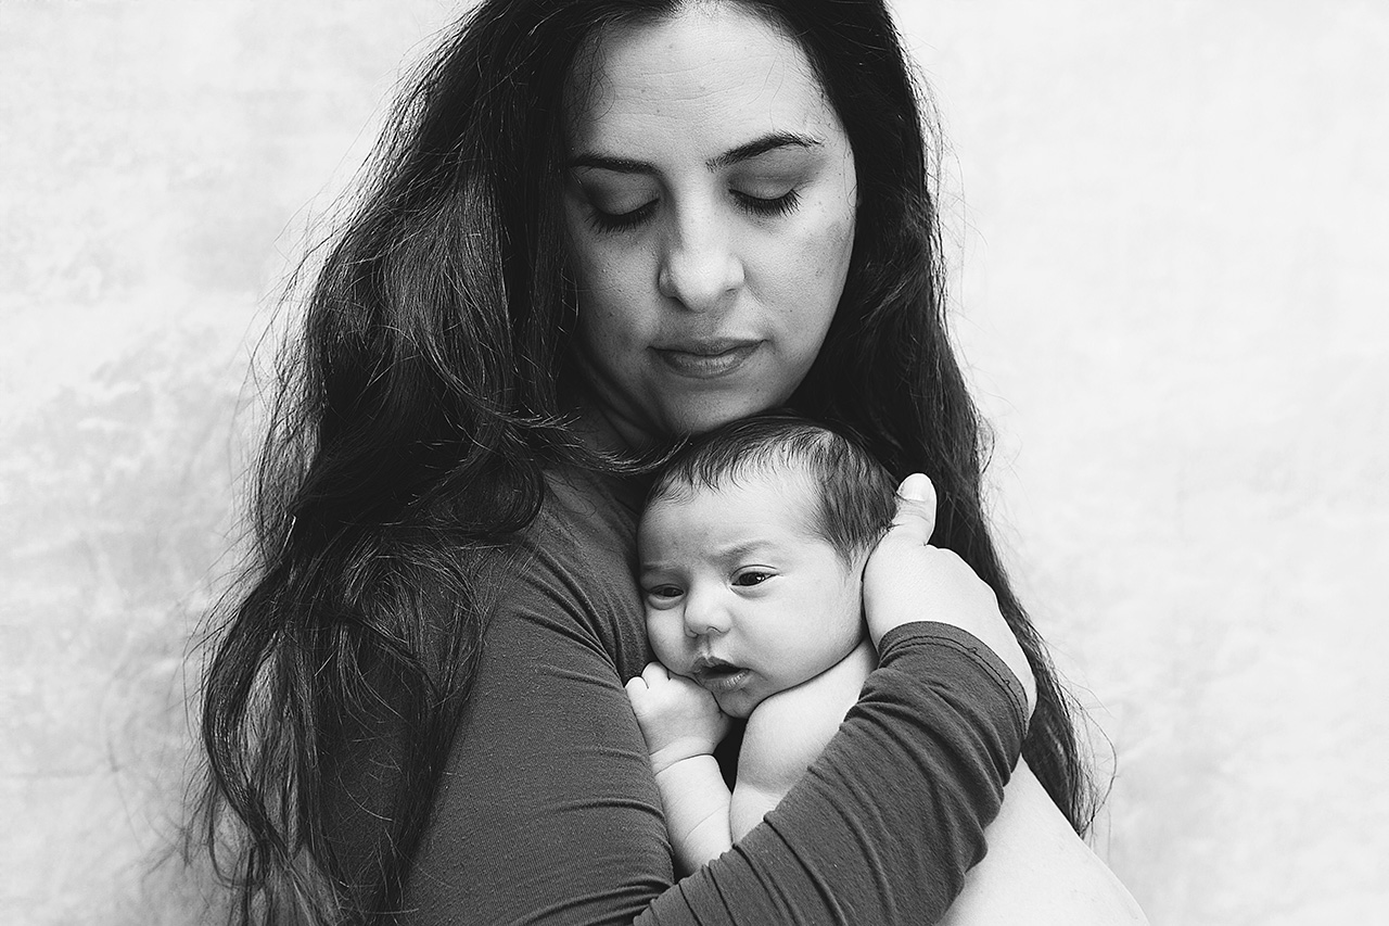
<instances>
[{"instance_id":1,"label":"pale mottled wall area right of the woman's hair","mask_svg":"<svg viewBox=\"0 0 1389 926\"><path fill-rule=\"evenodd\" d=\"M1099 848L1154 922L1381 920L1389 7L900 8L999 523L1118 755Z\"/></svg>"}]
</instances>

